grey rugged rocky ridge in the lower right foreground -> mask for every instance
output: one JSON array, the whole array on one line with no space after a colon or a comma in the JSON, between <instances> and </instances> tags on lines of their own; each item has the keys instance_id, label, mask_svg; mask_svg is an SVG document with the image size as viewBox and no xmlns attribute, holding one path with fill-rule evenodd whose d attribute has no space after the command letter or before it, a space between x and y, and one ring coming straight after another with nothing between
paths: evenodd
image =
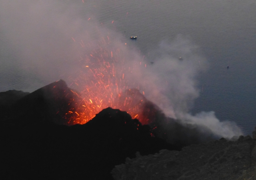
<instances>
[{"instance_id":1,"label":"grey rugged rocky ridge in the lower right foreground","mask_svg":"<svg viewBox=\"0 0 256 180\"><path fill-rule=\"evenodd\" d=\"M112 170L115 180L244 180L256 179L256 139L224 138L182 151L126 159Z\"/></svg>"}]
</instances>

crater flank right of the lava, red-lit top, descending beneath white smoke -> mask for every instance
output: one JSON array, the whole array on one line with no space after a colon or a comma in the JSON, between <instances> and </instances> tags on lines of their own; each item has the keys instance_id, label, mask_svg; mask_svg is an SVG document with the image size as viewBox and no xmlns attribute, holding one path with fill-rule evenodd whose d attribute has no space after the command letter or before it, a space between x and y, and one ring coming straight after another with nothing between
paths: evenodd
<instances>
[{"instance_id":1,"label":"crater flank right of the lava, red-lit top, descending beneath white smoke","mask_svg":"<svg viewBox=\"0 0 256 180\"><path fill-rule=\"evenodd\" d=\"M118 107L122 110L127 108L124 106L124 102L130 105L128 107L137 107L135 114L138 115L142 124L148 124L155 136L180 147L180 149L184 146L221 138L203 125L184 123L180 119L166 117L156 104L147 100L137 89L122 92L118 101Z\"/></svg>"}]
</instances>

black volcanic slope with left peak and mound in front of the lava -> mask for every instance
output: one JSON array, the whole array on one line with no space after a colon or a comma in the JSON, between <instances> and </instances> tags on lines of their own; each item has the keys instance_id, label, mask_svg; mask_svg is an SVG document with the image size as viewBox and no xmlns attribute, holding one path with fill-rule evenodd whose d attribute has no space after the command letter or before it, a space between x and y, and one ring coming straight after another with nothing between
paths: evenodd
<instances>
[{"instance_id":1,"label":"black volcanic slope with left peak and mound in front of the lava","mask_svg":"<svg viewBox=\"0 0 256 180\"><path fill-rule=\"evenodd\" d=\"M54 123L66 122L55 113L65 112L66 92L63 81L49 84L18 100L1 119L0 179L112 179L114 166L137 151L176 149L152 137L149 126L111 108L84 125Z\"/></svg>"}]
</instances>

